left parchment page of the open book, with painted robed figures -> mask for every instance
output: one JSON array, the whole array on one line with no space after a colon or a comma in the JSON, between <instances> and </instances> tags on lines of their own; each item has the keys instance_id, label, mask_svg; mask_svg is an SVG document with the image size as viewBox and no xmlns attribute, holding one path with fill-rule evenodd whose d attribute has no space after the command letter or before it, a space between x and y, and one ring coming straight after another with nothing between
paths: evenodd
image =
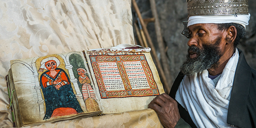
<instances>
[{"instance_id":1,"label":"left parchment page of the open book, with painted robed figures","mask_svg":"<svg viewBox=\"0 0 256 128\"><path fill-rule=\"evenodd\" d=\"M101 112L82 52L13 60L11 70L23 126Z\"/></svg>"}]
</instances>

